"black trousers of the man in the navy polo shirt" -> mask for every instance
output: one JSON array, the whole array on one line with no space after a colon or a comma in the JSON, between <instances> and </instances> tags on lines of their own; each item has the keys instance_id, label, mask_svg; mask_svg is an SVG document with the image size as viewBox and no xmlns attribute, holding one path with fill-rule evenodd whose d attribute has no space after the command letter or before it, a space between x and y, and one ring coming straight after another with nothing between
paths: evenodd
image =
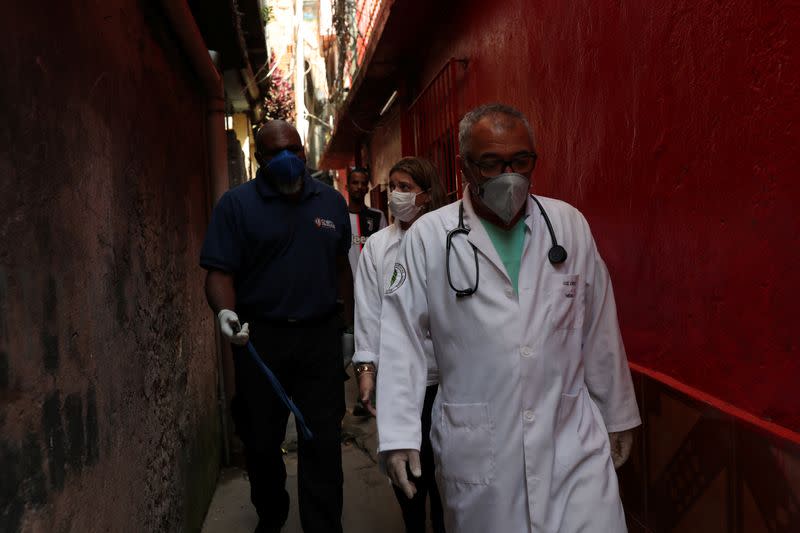
<instances>
[{"instance_id":1,"label":"black trousers of the man in the navy polo shirt","mask_svg":"<svg viewBox=\"0 0 800 533\"><path fill-rule=\"evenodd\" d=\"M341 533L344 416L342 348L336 317L315 324L250 321L250 341L277 376L313 433L298 427L297 485L300 523L308 533ZM244 348L234 350L236 397L232 408L250 477L250 499L260 525L279 528L289 514L281 443L288 409Z\"/></svg>"}]
</instances>

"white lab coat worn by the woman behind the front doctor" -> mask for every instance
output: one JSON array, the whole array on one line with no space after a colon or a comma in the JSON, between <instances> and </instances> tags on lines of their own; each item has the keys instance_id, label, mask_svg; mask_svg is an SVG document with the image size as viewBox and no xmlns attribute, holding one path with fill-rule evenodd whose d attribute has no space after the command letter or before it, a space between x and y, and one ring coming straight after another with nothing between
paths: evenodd
<instances>
[{"instance_id":1,"label":"white lab coat worn by the woman behind the front doctor","mask_svg":"<svg viewBox=\"0 0 800 533\"><path fill-rule=\"evenodd\" d=\"M391 282L392 271L405 231L395 222L367 239L355 274L355 345L353 364L373 363L378 368L381 340L383 295ZM428 361L427 385L438 383L433 342L423 340Z\"/></svg>"}]
</instances>

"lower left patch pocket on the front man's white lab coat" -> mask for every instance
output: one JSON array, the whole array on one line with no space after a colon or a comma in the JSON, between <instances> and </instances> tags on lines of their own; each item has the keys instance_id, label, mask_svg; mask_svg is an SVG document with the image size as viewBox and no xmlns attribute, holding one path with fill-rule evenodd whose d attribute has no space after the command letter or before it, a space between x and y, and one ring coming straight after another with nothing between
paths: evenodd
<instances>
[{"instance_id":1,"label":"lower left patch pocket on the front man's white lab coat","mask_svg":"<svg viewBox=\"0 0 800 533\"><path fill-rule=\"evenodd\" d=\"M488 485L494 479L494 424L488 403L442 404L441 476Z\"/></svg>"}]
</instances>

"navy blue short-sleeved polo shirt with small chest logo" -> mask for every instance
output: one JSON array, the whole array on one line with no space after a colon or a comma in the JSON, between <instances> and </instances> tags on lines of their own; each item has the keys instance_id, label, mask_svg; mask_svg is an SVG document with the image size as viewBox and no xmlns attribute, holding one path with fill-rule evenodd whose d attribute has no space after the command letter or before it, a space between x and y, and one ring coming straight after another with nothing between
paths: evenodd
<instances>
[{"instance_id":1,"label":"navy blue short-sleeved polo shirt with small chest logo","mask_svg":"<svg viewBox=\"0 0 800 533\"><path fill-rule=\"evenodd\" d=\"M304 179L299 201L259 174L214 208L200 266L233 275L243 321L308 320L336 307L336 256L350 248L347 204L332 187Z\"/></svg>"}]
</instances>

